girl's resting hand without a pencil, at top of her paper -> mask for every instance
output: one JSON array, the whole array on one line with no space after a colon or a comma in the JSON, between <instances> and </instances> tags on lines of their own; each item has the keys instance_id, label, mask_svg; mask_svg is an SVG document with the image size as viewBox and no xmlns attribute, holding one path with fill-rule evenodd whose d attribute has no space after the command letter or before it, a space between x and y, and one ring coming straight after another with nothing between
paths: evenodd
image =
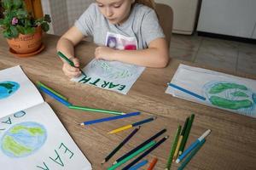
<instances>
[{"instance_id":1,"label":"girl's resting hand without a pencil, at top of her paper","mask_svg":"<svg viewBox=\"0 0 256 170\"><path fill-rule=\"evenodd\" d=\"M95 49L95 58L104 60L113 60L113 53L115 49L108 47L98 47Z\"/></svg>"}]
</instances>

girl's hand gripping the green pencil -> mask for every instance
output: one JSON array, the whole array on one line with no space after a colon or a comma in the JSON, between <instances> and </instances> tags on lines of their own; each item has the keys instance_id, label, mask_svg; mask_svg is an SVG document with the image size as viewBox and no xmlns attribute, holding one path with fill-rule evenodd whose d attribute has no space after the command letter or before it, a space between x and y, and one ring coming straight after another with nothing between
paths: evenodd
<instances>
[{"instance_id":1,"label":"girl's hand gripping the green pencil","mask_svg":"<svg viewBox=\"0 0 256 170\"><path fill-rule=\"evenodd\" d=\"M81 71L79 70L79 59L77 58L71 58L70 60L73 61L73 64L76 67L73 67L69 65L67 62L64 61L64 64L62 66L62 71L67 77L73 78L73 77L79 77L81 74Z\"/></svg>"}]
</instances>

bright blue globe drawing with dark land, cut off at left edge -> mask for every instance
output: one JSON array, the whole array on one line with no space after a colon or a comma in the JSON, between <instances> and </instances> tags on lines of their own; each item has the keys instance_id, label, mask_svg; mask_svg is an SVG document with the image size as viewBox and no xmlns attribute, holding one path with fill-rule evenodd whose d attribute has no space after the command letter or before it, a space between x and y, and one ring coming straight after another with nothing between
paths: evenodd
<instances>
[{"instance_id":1,"label":"bright blue globe drawing with dark land, cut off at left edge","mask_svg":"<svg viewBox=\"0 0 256 170\"><path fill-rule=\"evenodd\" d=\"M17 82L0 82L0 99L8 98L11 94L14 94L20 88L20 84Z\"/></svg>"}]
</instances>

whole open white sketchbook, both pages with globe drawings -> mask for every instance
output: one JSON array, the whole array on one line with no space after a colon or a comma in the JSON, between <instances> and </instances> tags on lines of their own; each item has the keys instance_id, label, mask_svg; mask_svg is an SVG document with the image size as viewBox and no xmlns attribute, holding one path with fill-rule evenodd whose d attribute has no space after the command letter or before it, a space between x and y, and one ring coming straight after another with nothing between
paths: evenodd
<instances>
[{"instance_id":1,"label":"whole open white sketchbook, both pages with globe drawings","mask_svg":"<svg viewBox=\"0 0 256 170\"><path fill-rule=\"evenodd\" d=\"M90 170L90 162L20 66L0 71L0 75L1 168ZM8 105L6 100L15 103L15 110L3 109L2 105ZM7 114L11 111L15 112Z\"/></svg>"}]
</instances>

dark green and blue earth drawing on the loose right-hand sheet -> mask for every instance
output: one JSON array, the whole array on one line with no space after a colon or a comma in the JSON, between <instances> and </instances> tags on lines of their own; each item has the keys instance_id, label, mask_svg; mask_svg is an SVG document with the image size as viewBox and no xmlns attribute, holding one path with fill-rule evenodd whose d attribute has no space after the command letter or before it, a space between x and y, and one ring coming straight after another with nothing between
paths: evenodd
<instances>
[{"instance_id":1,"label":"dark green and blue earth drawing on the loose right-hand sheet","mask_svg":"<svg viewBox=\"0 0 256 170\"><path fill-rule=\"evenodd\" d=\"M208 82L203 89L212 105L256 116L256 94L245 85L236 82Z\"/></svg>"}]
</instances>

